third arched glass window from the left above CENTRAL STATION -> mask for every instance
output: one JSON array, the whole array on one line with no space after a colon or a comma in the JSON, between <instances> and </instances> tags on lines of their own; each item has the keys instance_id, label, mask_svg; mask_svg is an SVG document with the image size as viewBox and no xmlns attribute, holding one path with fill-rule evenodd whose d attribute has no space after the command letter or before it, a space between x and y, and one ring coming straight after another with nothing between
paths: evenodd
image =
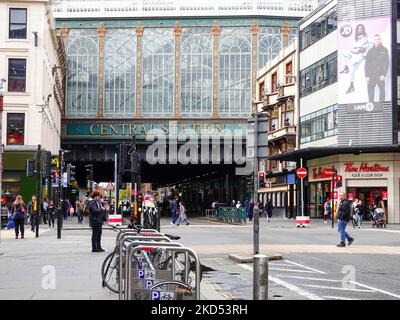
<instances>
[{"instance_id":1,"label":"third arched glass window from the left above CENTRAL STATION","mask_svg":"<svg viewBox=\"0 0 400 320\"><path fill-rule=\"evenodd\" d=\"M174 111L175 40L172 29L144 29L143 100L146 117L170 117Z\"/></svg>"}]
</instances>

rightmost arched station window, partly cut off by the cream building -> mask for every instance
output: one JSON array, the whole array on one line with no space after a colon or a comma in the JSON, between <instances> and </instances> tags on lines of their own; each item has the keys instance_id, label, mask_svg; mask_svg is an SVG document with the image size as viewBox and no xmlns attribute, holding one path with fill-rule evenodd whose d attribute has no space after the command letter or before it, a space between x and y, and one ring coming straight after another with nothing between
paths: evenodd
<instances>
[{"instance_id":1,"label":"rightmost arched station window, partly cut off by the cream building","mask_svg":"<svg viewBox=\"0 0 400 320\"><path fill-rule=\"evenodd\" d=\"M283 47L280 28L260 28L258 36L257 67L265 67L268 61L274 59Z\"/></svg>"}]
</instances>

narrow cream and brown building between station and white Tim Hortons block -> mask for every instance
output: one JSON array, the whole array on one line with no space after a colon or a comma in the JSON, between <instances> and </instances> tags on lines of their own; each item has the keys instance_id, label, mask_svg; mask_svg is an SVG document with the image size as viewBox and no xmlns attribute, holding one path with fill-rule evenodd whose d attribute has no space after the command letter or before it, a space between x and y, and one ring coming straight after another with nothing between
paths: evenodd
<instances>
[{"instance_id":1,"label":"narrow cream and brown building between station and white Tim Hortons block","mask_svg":"<svg viewBox=\"0 0 400 320\"><path fill-rule=\"evenodd\" d=\"M269 114L269 156L297 148L297 41L282 49L257 74L257 99ZM271 201L274 216L296 215L296 162L263 160L260 171L266 172L268 188L259 189L263 203Z\"/></svg>"}]
</instances>

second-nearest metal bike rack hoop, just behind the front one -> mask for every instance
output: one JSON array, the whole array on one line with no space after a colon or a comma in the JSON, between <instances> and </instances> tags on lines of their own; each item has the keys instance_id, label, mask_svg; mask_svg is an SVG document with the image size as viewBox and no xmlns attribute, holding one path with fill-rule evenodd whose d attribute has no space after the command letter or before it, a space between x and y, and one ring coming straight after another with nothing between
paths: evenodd
<instances>
[{"instance_id":1,"label":"second-nearest metal bike rack hoop, just behind the front one","mask_svg":"<svg viewBox=\"0 0 400 320\"><path fill-rule=\"evenodd\" d=\"M183 247L182 244L176 242L151 242L151 241L134 241L127 247L127 253L125 257L125 282L124 282L124 300L130 300L131 290L131 276L132 276L132 257L133 254L139 250L136 248L144 248L145 246L151 246L153 248L164 248L164 247ZM173 260L174 261L174 260ZM172 263L174 265L174 263ZM174 273L172 273L174 274ZM121 290L120 290L121 292Z\"/></svg>"}]
</instances>

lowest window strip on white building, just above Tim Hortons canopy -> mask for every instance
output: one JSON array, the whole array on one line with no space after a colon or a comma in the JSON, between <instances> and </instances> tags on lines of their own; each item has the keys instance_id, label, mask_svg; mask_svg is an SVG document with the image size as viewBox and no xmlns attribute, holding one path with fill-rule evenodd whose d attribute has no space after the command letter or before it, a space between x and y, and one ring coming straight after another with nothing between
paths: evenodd
<instances>
[{"instance_id":1,"label":"lowest window strip on white building, just above Tim Hortons canopy","mask_svg":"<svg viewBox=\"0 0 400 320\"><path fill-rule=\"evenodd\" d=\"M300 119L300 143L324 139L337 134L337 105L318 110Z\"/></svg>"}]
</instances>

